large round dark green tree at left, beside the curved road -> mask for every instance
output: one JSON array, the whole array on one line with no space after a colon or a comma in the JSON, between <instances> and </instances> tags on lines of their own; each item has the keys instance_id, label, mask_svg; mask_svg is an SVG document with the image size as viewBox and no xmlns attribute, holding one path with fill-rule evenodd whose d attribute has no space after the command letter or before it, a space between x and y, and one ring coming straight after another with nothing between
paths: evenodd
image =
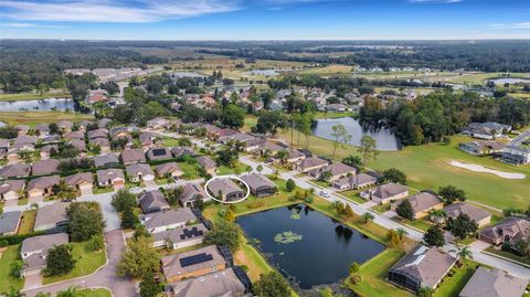
<instances>
[{"instance_id":1,"label":"large round dark green tree at left, beside the curved road","mask_svg":"<svg viewBox=\"0 0 530 297\"><path fill-rule=\"evenodd\" d=\"M102 234L105 227L99 204L95 202L74 202L66 210L68 231L72 241L86 241Z\"/></svg>"}]
</instances>

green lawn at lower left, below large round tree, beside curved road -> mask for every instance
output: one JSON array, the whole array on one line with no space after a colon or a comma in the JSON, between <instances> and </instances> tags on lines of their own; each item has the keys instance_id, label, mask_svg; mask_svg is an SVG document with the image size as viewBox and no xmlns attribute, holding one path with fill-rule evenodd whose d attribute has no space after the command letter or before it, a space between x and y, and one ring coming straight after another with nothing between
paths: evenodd
<instances>
[{"instance_id":1,"label":"green lawn at lower left, below large round tree, beside curved road","mask_svg":"<svg viewBox=\"0 0 530 297\"><path fill-rule=\"evenodd\" d=\"M105 265L107 261L105 256L105 248L98 252L87 252L86 251L87 243L88 241L71 243L73 246L73 250L72 250L73 258L77 261L72 272L61 276L43 277L42 283L46 285L55 282L61 282L61 280L92 274L97 268Z\"/></svg>"}]
</instances>

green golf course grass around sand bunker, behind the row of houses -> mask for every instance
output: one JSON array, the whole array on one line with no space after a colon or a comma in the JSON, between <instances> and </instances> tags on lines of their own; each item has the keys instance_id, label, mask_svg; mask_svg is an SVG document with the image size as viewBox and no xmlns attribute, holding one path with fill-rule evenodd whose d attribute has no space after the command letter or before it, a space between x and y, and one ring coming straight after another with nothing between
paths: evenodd
<instances>
[{"instance_id":1,"label":"green golf course grass around sand bunker, behind the row of houses","mask_svg":"<svg viewBox=\"0 0 530 297\"><path fill-rule=\"evenodd\" d=\"M289 141L290 135L279 131L278 137ZM296 138L295 138L296 139ZM377 160L368 162L368 167L375 170L398 168L406 173L411 188L418 190L437 191L441 187L455 185L466 191L469 200L477 201L497 209L521 208L530 203L529 179L530 167L512 166L496 161L491 158L476 157L457 148L458 142L469 141L470 138L453 136L452 144L428 144L410 146L400 151L381 151ZM325 157L331 157L330 140L314 137L309 139L309 150ZM296 140L295 140L296 145ZM348 155L357 155L357 148L348 146L337 148L336 160ZM449 165L451 160L481 165L487 168L519 172L527 176L523 180L508 180L494 174L473 172Z\"/></svg>"}]
</instances>

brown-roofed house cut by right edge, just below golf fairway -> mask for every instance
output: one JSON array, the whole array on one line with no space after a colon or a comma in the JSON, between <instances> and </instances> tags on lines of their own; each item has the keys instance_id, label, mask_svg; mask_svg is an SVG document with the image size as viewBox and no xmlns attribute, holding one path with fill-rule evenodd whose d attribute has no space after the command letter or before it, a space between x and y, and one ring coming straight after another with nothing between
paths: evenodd
<instances>
[{"instance_id":1,"label":"brown-roofed house cut by right edge, just below golf fairway","mask_svg":"<svg viewBox=\"0 0 530 297\"><path fill-rule=\"evenodd\" d=\"M519 240L528 241L530 221L523 218L510 216L480 231L480 240L492 245L507 243L513 246Z\"/></svg>"}]
</instances>

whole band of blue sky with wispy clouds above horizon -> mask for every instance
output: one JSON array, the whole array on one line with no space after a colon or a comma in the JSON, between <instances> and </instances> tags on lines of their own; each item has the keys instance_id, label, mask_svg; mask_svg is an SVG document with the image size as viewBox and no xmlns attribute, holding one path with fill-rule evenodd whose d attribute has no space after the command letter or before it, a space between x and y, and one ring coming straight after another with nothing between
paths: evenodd
<instances>
[{"instance_id":1,"label":"whole band of blue sky with wispy clouds above horizon","mask_svg":"<svg viewBox=\"0 0 530 297\"><path fill-rule=\"evenodd\" d=\"M0 0L0 39L530 39L530 0Z\"/></svg>"}]
</instances>

